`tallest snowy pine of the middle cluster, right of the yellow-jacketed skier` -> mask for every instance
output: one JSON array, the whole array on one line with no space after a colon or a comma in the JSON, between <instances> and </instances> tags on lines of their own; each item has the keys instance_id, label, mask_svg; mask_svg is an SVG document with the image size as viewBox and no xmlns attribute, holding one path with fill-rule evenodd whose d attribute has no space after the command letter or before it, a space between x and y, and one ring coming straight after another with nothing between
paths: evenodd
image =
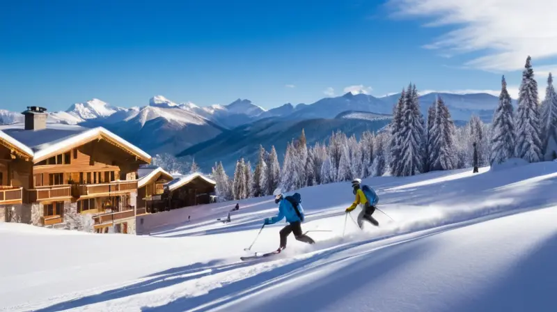
<instances>
[{"instance_id":1,"label":"tallest snowy pine of the middle cluster, right of the yellow-jacketed skier","mask_svg":"<svg viewBox=\"0 0 557 312\"><path fill-rule=\"evenodd\" d=\"M400 171L395 171L398 176L414 176L423 172L423 116L420 105L415 95L416 87L408 86L404 109L399 131L400 146Z\"/></svg>"}]
</instances>

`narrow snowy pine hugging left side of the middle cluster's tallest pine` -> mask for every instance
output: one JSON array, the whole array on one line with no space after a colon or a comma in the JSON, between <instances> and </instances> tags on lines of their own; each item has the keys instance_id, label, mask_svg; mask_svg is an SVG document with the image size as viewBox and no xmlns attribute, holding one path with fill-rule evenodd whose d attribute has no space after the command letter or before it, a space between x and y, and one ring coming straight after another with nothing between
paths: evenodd
<instances>
[{"instance_id":1,"label":"narrow snowy pine hugging left side of the middle cluster's tallest pine","mask_svg":"<svg viewBox=\"0 0 557 312\"><path fill-rule=\"evenodd\" d=\"M390 157L390 167L391 174L393 176L400 176L400 171L402 168L400 164L402 163L402 114L404 114L406 91L402 89L400 98L395 104L393 109L393 120L391 120L391 143L389 144L389 151L391 153Z\"/></svg>"}]
</instances>

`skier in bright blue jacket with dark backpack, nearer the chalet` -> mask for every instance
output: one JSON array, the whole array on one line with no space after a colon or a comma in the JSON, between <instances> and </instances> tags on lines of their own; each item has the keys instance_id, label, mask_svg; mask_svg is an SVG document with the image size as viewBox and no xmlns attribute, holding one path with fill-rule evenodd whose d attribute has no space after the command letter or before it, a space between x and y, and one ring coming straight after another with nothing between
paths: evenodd
<instances>
[{"instance_id":1,"label":"skier in bright blue jacket with dark backpack, nearer the chalet","mask_svg":"<svg viewBox=\"0 0 557 312\"><path fill-rule=\"evenodd\" d=\"M278 214L275 217L265 219L265 225L275 224L286 218L288 225L285 226L279 234L281 235L281 244L276 251L281 252L286 248L286 238L290 233L294 232L294 237L300 242L314 244L315 241L308 235L301 232L301 222L304 221L304 209L301 207L301 196L295 193L292 196L283 197L280 189L273 192L275 196L274 202L278 203Z\"/></svg>"}]
</instances>

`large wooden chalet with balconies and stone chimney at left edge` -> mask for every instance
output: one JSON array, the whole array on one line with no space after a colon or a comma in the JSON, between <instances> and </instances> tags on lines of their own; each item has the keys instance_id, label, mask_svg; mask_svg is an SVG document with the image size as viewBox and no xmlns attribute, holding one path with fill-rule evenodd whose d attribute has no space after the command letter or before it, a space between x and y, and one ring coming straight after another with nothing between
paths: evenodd
<instances>
[{"instance_id":1,"label":"large wooden chalet with balconies and stone chimney at left edge","mask_svg":"<svg viewBox=\"0 0 557 312\"><path fill-rule=\"evenodd\" d=\"M133 233L137 171L151 157L108 130L47 124L29 107L25 123L0 127L0 221L64 226L92 214L97 232Z\"/></svg>"}]
</instances>

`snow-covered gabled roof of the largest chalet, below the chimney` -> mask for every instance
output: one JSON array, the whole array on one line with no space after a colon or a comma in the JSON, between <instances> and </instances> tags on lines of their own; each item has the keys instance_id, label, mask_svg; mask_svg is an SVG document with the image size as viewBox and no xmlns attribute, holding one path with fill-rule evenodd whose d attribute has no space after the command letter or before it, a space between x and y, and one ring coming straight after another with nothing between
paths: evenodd
<instances>
[{"instance_id":1,"label":"snow-covered gabled roof of the largest chalet, below the chimney","mask_svg":"<svg viewBox=\"0 0 557 312\"><path fill-rule=\"evenodd\" d=\"M33 162L52 156L68 146L92 141L93 139L106 139L111 143L125 148L137 157L150 161L151 157L132 143L125 141L116 134L103 127L86 128L77 125L64 125L49 123L47 128L41 130L24 130L23 123L0 126L0 136L10 137L13 145L21 150L31 152Z\"/></svg>"}]
</instances>

